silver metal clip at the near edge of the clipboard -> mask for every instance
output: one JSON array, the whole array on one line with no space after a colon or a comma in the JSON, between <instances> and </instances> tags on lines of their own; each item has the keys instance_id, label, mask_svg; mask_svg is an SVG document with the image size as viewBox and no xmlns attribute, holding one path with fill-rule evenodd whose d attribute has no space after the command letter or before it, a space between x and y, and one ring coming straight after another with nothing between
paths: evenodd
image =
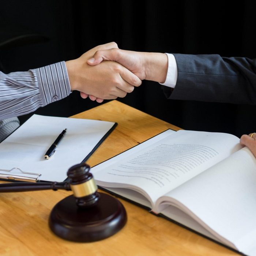
<instances>
[{"instance_id":1,"label":"silver metal clip at the near edge of the clipboard","mask_svg":"<svg viewBox=\"0 0 256 256\"><path fill-rule=\"evenodd\" d=\"M11 170L0 169L0 179L4 180L37 182L40 176L41 174L39 173L23 172L16 167Z\"/></svg>"}]
</instances>

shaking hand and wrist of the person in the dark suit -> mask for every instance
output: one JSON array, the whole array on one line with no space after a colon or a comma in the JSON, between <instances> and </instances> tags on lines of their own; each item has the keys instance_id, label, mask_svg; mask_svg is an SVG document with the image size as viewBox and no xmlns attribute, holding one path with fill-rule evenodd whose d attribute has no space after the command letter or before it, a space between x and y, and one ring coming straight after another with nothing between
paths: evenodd
<instances>
[{"instance_id":1,"label":"shaking hand and wrist of the person in the dark suit","mask_svg":"<svg viewBox=\"0 0 256 256\"><path fill-rule=\"evenodd\" d=\"M87 61L89 65L98 65L103 60L116 61L129 69L141 80L164 83L168 69L168 58L164 53L133 52L118 48L98 50Z\"/></svg>"}]
</instances>

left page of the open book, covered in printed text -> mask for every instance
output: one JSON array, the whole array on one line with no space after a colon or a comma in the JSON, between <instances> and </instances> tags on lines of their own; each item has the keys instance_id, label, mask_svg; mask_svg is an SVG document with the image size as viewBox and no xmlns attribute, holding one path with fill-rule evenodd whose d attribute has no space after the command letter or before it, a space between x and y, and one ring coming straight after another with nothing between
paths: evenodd
<instances>
[{"instance_id":1,"label":"left page of the open book, covered in printed text","mask_svg":"<svg viewBox=\"0 0 256 256\"><path fill-rule=\"evenodd\" d=\"M225 140L225 146L221 143ZM145 145L145 146L144 146ZM131 188L153 205L158 197L195 177L241 148L236 136L225 133L177 131L134 154L109 159L92 168L98 185Z\"/></svg>"}]
</instances>

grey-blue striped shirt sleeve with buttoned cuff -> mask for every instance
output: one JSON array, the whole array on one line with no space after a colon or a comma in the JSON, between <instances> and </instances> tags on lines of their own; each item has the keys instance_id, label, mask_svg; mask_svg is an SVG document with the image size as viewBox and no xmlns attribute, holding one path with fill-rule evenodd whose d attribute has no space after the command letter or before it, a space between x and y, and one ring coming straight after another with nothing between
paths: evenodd
<instances>
[{"instance_id":1,"label":"grey-blue striped shirt sleeve with buttoned cuff","mask_svg":"<svg viewBox=\"0 0 256 256\"><path fill-rule=\"evenodd\" d=\"M33 112L70 93L64 61L27 72L0 72L0 119Z\"/></svg>"}]
</instances>

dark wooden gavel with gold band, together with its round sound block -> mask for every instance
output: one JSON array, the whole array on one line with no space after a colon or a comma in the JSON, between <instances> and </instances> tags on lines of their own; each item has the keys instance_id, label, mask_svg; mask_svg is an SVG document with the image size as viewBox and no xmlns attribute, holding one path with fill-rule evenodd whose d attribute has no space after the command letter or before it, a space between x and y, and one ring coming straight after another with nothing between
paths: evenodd
<instances>
[{"instance_id":1,"label":"dark wooden gavel with gold band, together with its round sound block","mask_svg":"<svg viewBox=\"0 0 256 256\"><path fill-rule=\"evenodd\" d=\"M120 201L97 191L97 185L89 171L89 165L80 163L69 168L67 181L0 184L0 193L72 190L73 195L65 197L53 207L49 216L50 229L66 240L98 241L122 229L127 222L127 214Z\"/></svg>"}]
</instances>

